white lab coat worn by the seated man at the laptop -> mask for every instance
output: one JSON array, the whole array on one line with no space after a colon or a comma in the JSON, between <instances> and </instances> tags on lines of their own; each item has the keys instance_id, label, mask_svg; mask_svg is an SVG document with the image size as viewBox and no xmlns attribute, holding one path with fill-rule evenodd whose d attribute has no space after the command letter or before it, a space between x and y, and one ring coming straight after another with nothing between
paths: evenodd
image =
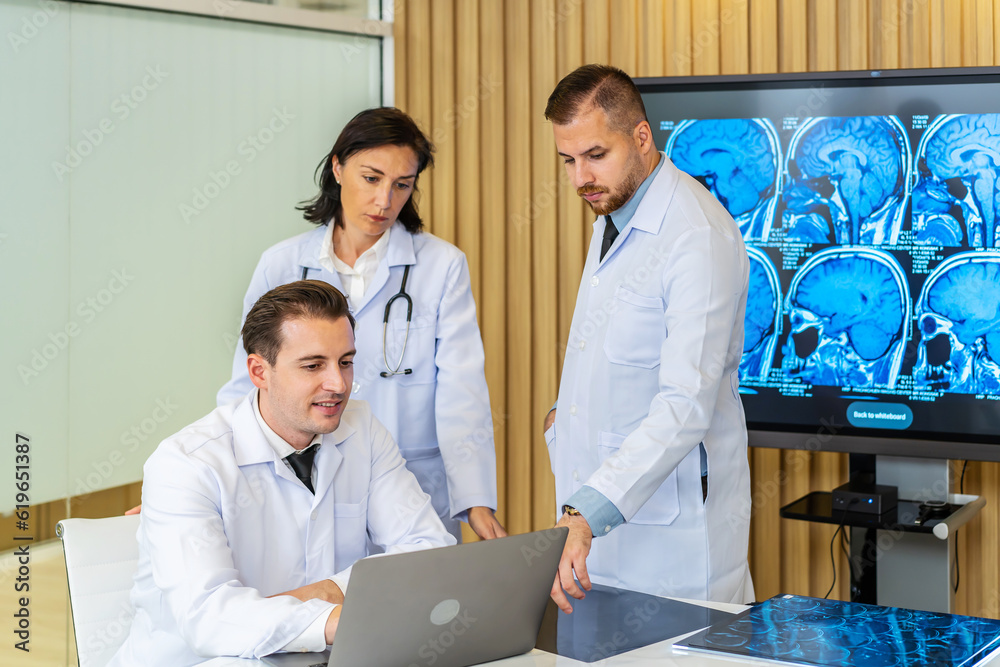
<instances>
[{"instance_id":1,"label":"white lab coat worn by the seated man at the laptop","mask_svg":"<svg viewBox=\"0 0 1000 667\"><path fill-rule=\"evenodd\" d=\"M314 495L268 445L252 397L146 462L136 614L113 667L269 655L333 605L266 596L327 578L346 592L369 535L387 553L455 543L364 401L323 436Z\"/></svg>"}]
</instances>

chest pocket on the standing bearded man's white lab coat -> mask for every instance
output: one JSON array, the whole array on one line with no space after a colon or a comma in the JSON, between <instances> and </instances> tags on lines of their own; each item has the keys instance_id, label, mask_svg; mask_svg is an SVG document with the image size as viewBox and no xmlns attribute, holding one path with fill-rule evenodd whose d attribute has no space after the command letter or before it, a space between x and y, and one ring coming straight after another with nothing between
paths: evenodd
<instances>
[{"instance_id":1,"label":"chest pocket on the standing bearded man's white lab coat","mask_svg":"<svg viewBox=\"0 0 1000 667\"><path fill-rule=\"evenodd\" d=\"M663 299L642 296L619 285L604 338L604 353L613 364L656 368L667 339Z\"/></svg>"}]
</instances>

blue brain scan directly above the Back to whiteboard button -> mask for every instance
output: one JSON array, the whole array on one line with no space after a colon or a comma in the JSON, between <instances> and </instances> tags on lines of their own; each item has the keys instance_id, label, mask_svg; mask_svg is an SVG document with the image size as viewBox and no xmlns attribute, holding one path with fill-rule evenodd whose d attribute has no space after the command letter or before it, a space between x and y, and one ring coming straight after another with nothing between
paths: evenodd
<instances>
[{"instance_id":1,"label":"blue brain scan directly above the Back to whiteboard button","mask_svg":"<svg viewBox=\"0 0 1000 667\"><path fill-rule=\"evenodd\" d=\"M795 274L782 348L789 380L813 385L891 388L909 338L909 288L892 255L828 248Z\"/></svg>"}]
</instances>

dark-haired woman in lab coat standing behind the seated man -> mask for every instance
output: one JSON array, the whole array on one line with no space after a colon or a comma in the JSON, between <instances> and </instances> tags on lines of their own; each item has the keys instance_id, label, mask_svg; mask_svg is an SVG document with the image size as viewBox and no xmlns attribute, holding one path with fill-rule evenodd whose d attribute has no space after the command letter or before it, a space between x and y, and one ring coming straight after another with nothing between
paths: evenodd
<instances>
[{"instance_id":1,"label":"dark-haired woman in lab coat standing behind the seated man","mask_svg":"<svg viewBox=\"0 0 1000 667\"><path fill-rule=\"evenodd\" d=\"M264 252L243 318L265 292L295 280L343 292L357 319L351 397L371 403L449 532L461 540L467 521L484 539L502 537L469 266L461 250L421 231L413 199L433 150L398 109L355 116L316 170L319 194L299 207L316 229ZM219 405L252 389L246 358L238 344Z\"/></svg>"}]
</instances>

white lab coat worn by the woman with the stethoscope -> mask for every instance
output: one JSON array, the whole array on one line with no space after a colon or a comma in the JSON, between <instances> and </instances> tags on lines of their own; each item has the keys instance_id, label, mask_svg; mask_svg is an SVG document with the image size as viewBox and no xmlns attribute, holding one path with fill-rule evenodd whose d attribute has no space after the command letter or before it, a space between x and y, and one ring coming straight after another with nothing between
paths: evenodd
<instances>
[{"instance_id":1,"label":"white lab coat worn by the woman with the stethoscope","mask_svg":"<svg viewBox=\"0 0 1000 667\"><path fill-rule=\"evenodd\" d=\"M243 300L243 319L265 292L307 277L343 291L340 276L318 257L325 227L286 239L260 258ZM397 292L409 265L406 291L413 318L401 368L410 375L379 376L385 304ZM461 539L458 519L470 507L497 507L493 417L484 371L483 341L476 321L469 267L455 246L426 232L410 234L396 223L389 247L360 304L354 387L351 396L368 401L396 440L407 467L430 494L449 532ZM406 332L406 306L397 299L390 315L387 356L395 366ZM219 390L223 405L252 387L243 343L236 345L232 379Z\"/></svg>"}]
</instances>

